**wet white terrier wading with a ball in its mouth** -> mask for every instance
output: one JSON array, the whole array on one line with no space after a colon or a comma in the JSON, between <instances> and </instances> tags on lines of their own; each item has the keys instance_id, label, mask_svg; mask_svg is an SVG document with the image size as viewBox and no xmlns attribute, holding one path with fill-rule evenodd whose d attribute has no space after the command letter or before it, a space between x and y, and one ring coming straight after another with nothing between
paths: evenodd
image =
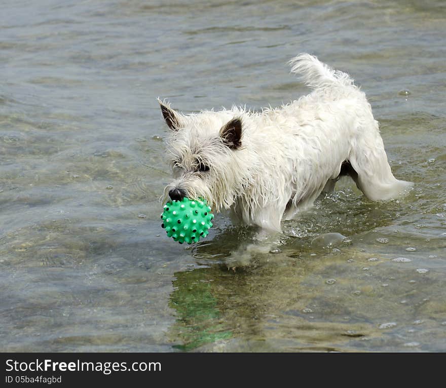
<instances>
[{"instance_id":1,"label":"wet white terrier wading with a ball in its mouth","mask_svg":"<svg viewBox=\"0 0 446 388\"><path fill-rule=\"evenodd\" d=\"M183 115L159 100L174 175L164 201L203 197L217 212L280 232L283 219L298 217L342 175L374 201L412 186L393 176L378 122L349 75L309 54L290 64L313 92L280 108Z\"/></svg>"}]
</instances>

